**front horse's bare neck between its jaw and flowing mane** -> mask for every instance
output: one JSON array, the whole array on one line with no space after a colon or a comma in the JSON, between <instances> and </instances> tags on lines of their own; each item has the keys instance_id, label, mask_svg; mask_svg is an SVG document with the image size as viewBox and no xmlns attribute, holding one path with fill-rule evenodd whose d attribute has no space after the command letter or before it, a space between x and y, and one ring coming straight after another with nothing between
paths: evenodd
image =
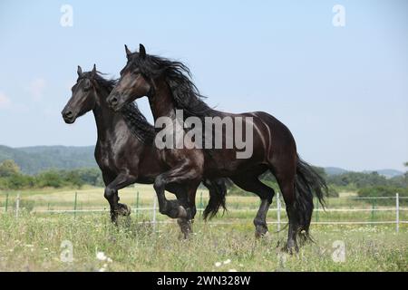
<instances>
[{"instance_id":1,"label":"front horse's bare neck between its jaw and flowing mane","mask_svg":"<svg viewBox=\"0 0 408 290\"><path fill-rule=\"evenodd\" d=\"M160 117L176 118L176 109L170 87L164 80L156 83L155 93L149 97L149 103L154 121L157 121Z\"/></svg>"}]
</instances>

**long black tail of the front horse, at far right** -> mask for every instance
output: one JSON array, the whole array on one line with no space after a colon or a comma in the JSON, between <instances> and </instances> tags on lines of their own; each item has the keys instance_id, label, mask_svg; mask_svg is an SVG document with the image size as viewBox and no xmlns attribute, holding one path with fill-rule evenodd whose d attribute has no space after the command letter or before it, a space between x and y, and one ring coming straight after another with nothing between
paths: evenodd
<instances>
[{"instance_id":1,"label":"long black tail of the front horse, at far right","mask_svg":"<svg viewBox=\"0 0 408 290\"><path fill-rule=\"evenodd\" d=\"M327 185L315 169L313 169L304 160L297 156L296 177L295 177L295 207L298 213L297 234L301 242L313 239L309 235L309 226L312 221L313 213L313 193L315 193L320 204L325 208L325 194L327 194Z\"/></svg>"}]
</instances>

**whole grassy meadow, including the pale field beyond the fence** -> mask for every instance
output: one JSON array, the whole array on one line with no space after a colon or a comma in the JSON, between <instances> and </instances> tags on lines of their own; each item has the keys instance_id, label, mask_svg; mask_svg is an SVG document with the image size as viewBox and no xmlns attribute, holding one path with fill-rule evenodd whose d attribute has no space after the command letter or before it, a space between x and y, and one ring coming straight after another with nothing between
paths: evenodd
<instances>
[{"instance_id":1,"label":"whole grassy meadow, including the pale field beyond the fence","mask_svg":"<svg viewBox=\"0 0 408 290\"><path fill-rule=\"evenodd\" d=\"M137 190L139 206L151 208L154 197L151 186L138 186ZM298 255L287 256L280 250L287 229L276 233L277 225L269 225L269 235L255 239L252 219L259 204L256 197L228 197L231 210L209 223L204 223L198 213L194 234L189 240L180 240L180 229L174 222L160 223L153 230L148 222L151 210L133 212L130 224L122 219L120 227L114 227L103 189L76 191L78 208L106 208L106 211L76 216L35 212L47 208L73 209L74 189L44 189L20 192L23 205L34 202L34 210L30 213L23 208L19 218L15 218L16 192L9 193L9 210L0 214L0 271L98 271L101 268L106 271L408 271L407 224L401 224L398 234L395 225L312 224L316 244L307 244ZM205 190L199 190L197 204L200 192L206 205ZM121 202L134 208L135 189L123 189L120 196ZM4 206L5 192L0 192L0 207ZM276 201L271 208L276 208ZM364 200L331 198L328 208L372 208L372 205ZM400 219L408 220L407 214L401 211ZM281 216L286 222L285 212ZM317 221L316 216L315 212L313 221ZM171 221L159 213L157 218ZM371 211L318 213L318 221L394 219L393 211L377 211L374 215ZM277 211L269 211L267 220L276 221ZM71 263L60 258L64 240L73 244ZM344 262L335 263L332 258L335 241L345 243ZM98 260L96 253L100 251L112 258L112 263ZM225 265L222 262L226 260L231 262ZM221 266L215 266L217 262Z\"/></svg>"}]
</instances>

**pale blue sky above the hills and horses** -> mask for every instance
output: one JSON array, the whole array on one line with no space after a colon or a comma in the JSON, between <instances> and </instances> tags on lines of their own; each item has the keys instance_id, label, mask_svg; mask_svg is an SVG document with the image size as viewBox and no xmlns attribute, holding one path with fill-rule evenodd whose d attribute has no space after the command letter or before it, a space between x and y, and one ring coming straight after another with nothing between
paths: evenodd
<instances>
[{"instance_id":1,"label":"pale blue sky above the hills and horses","mask_svg":"<svg viewBox=\"0 0 408 290\"><path fill-rule=\"evenodd\" d=\"M73 7L73 27L60 24ZM332 24L345 7L345 27ZM123 44L186 63L210 105L267 111L319 166L408 161L406 1L1 1L0 144L93 145L60 111L76 65L117 77ZM151 118L148 102L138 102Z\"/></svg>"}]
</instances>

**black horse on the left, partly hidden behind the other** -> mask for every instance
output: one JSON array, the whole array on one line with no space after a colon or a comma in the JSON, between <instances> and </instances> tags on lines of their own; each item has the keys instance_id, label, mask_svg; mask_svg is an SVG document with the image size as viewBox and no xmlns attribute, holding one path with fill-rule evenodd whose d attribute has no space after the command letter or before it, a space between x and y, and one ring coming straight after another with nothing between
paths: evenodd
<instances>
[{"instance_id":1,"label":"black horse on the left, partly hidden behind the other","mask_svg":"<svg viewBox=\"0 0 408 290\"><path fill-rule=\"evenodd\" d=\"M83 73L78 66L78 80L73 85L73 96L62 114L66 123L73 123L87 111L93 111L98 131L95 160L102 170L106 185L104 197L111 206L112 222L116 223L118 214L130 214L130 209L126 205L118 203L118 190L135 182L151 184L166 168L160 162L159 151L152 144L154 128L146 121L137 106L130 103L118 112L108 108L106 98L115 84L115 80L105 80L96 71L95 66L89 73ZM204 180L204 184L209 188L210 197L205 210L206 215L213 216L220 207L225 208L227 189L222 179ZM181 185L170 184L166 189L175 193L178 198L177 201L172 201L173 210L188 208L187 195ZM176 216L175 213L172 215ZM186 214L185 216L187 217ZM189 232L186 224L189 225L188 220L180 223L185 236Z\"/></svg>"}]
</instances>

